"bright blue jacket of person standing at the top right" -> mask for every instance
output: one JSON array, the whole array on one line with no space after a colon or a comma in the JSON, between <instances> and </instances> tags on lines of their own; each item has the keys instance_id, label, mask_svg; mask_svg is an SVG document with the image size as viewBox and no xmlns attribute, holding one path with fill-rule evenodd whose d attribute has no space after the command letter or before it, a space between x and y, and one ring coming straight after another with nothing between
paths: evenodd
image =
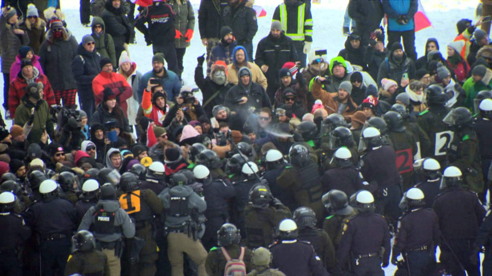
<instances>
[{"instance_id":1,"label":"bright blue jacket of person standing at the top right","mask_svg":"<svg viewBox=\"0 0 492 276\"><path fill-rule=\"evenodd\" d=\"M388 29L394 31L406 31L415 28L413 16L417 12L417 0L385 0L382 1L383 10L388 15ZM406 15L408 23L400 25L397 23L400 15Z\"/></svg>"}]
</instances>

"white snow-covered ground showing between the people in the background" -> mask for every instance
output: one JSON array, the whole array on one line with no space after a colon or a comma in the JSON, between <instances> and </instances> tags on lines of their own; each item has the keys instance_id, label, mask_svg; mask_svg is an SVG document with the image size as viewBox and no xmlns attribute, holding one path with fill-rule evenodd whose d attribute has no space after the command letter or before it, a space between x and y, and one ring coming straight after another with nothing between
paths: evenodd
<instances>
[{"instance_id":1,"label":"white snow-covered ground showing between the people in the background","mask_svg":"<svg viewBox=\"0 0 492 276\"><path fill-rule=\"evenodd\" d=\"M281 0L255 1L256 5L260 5L266 10L267 16L258 18L258 32L253 39L254 50L256 50L256 45L260 39L268 35L273 12L275 7L281 2ZM429 37L437 39L442 55L446 56L446 45L453 41L453 38L457 35L456 22L461 18L474 20L475 7L478 2L479 0L422 0L422 5L433 28L427 28L416 33L415 46L418 56L424 54L425 43ZM191 3L193 4L196 17L200 0L191 0ZM342 34L342 22L347 3L348 0L321 0L320 4L311 5L314 22L312 47L327 49L329 58L338 54L338 51L343 48L346 39ZM78 41L85 34L91 33L90 28L84 28L80 24L79 0L62 0L62 10L65 12L68 28ZM138 30L136 34L137 44L130 44L129 50L132 61L137 63L137 70L144 73L152 70L152 47L146 46L144 37ZM187 48L186 55L184 55L183 79L188 85L195 86L193 76L197 64L196 57L204 53L206 51L200 41L198 20L196 20L195 33L191 40L191 46ZM0 87L3 87L3 79L0 80ZM0 102L2 101L3 94L0 93ZM1 110L1 112L4 115L4 110ZM8 127L12 124L11 121L6 121L6 123ZM395 269L396 267L390 264L385 269L386 275L393 275Z\"/></svg>"}]
</instances>

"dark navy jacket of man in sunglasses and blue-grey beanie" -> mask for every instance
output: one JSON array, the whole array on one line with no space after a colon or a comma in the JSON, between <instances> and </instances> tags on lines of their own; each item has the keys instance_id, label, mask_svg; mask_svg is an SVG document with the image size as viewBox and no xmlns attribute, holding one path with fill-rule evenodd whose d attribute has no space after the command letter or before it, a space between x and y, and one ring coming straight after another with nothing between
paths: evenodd
<instances>
[{"instance_id":1,"label":"dark navy jacket of man in sunglasses and blue-grey beanie","mask_svg":"<svg viewBox=\"0 0 492 276\"><path fill-rule=\"evenodd\" d=\"M92 53L87 52L82 45L77 48L77 55L72 61L72 74L77 83L79 98L93 99L92 80L99 74L101 67L101 55L94 49Z\"/></svg>"}]
</instances>

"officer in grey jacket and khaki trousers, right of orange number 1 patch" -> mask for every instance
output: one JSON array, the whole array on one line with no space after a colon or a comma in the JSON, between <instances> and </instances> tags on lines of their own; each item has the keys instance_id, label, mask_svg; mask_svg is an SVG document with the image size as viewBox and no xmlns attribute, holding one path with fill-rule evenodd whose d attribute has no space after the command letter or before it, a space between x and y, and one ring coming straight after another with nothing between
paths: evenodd
<instances>
[{"instance_id":1,"label":"officer in grey jacket and khaki trousers, right of orange number 1 patch","mask_svg":"<svg viewBox=\"0 0 492 276\"><path fill-rule=\"evenodd\" d=\"M207 251L200 242L205 232L203 214L207 203L190 186L178 184L172 184L173 187L159 193L166 215L164 231L167 233L167 256L171 263L171 275L184 276L183 253L186 253L198 267L198 276L207 276Z\"/></svg>"}]
</instances>

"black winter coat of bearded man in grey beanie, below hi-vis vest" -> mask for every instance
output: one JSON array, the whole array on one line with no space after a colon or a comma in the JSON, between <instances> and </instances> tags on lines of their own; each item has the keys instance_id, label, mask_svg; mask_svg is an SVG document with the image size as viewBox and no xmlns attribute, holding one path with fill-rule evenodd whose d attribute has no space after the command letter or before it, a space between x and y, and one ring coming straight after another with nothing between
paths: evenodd
<instances>
[{"instance_id":1,"label":"black winter coat of bearded man in grey beanie, below hi-vis vest","mask_svg":"<svg viewBox=\"0 0 492 276\"><path fill-rule=\"evenodd\" d=\"M283 32L280 34L279 39L275 39L272 33L269 33L258 43L254 63L260 68L264 64L268 65L268 71L265 73L268 86L280 86L278 71L285 62L289 61L297 61L296 48L292 39L285 36Z\"/></svg>"}]
</instances>

